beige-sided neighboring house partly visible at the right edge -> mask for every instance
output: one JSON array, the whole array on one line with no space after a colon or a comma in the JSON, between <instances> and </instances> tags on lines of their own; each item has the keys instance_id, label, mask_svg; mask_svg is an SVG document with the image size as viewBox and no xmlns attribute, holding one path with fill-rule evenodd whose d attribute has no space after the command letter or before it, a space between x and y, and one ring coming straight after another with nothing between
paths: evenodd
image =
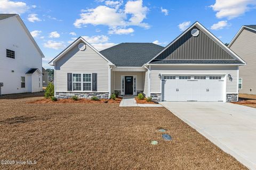
<instances>
[{"instance_id":1,"label":"beige-sided neighboring house partly visible at the right edge","mask_svg":"<svg viewBox=\"0 0 256 170\"><path fill-rule=\"evenodd\" d=\"M256 95L256 25L243 25L228 47L247 63L239 67L239 93Z\"/></svg>"}]
</instances>

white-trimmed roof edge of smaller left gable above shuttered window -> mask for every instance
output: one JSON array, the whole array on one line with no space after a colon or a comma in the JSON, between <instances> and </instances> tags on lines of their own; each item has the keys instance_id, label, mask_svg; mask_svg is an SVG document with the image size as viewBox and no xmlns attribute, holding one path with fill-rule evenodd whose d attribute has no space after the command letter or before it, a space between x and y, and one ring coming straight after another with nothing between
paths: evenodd
<instances>
[{"instance_id":1,"label":"white-trimmed roof edge of smaller left gable above shuttered window","mask_svg":"<svg viewBox=\"0 0 256 170\"><path fill-rule=\"evenodd\" d=\"M95 49L91 44L89 44L84 38L78 37L73 43L71 43L66 49L64 49L59 55L54 57L48 64L55 65L55 62L57 62L63 55L67 54L69 50L71 50L74 46L76 46L79 41L83 41L87 46L92 48L94 52L99 54L102 58L104 58L110 65L113 65L105 56L103 56L97 49Z\"/></svg>"}]
</instances>

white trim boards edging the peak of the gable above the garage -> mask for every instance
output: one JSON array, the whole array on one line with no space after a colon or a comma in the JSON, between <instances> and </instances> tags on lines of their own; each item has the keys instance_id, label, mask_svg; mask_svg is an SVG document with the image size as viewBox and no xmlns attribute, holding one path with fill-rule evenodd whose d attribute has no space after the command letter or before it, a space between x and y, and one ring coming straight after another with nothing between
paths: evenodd
<instances>
[{"instance_id":1,"label":"white trim boards edging the peak of the gable above the garage","mask_svg":"<svg viewBox=\"0 0 256 170\"><path fill-rule=\"evenodd\" d=\"M238 55L236 55L236 53L234 53L231 49L229 49L225 44L223 44L217 37L215 37L210 31L208 31L201 23L199 23L198 21L196 21L194 24L192 24L186 31L184 31L183 33L181 33L181 35L179 35L177 38L175 38L169 45L167 45L164 49L161 50L161 52L159 52L155 57L153 57L149 62L147 62L146 64L149 64L151 61L153 61L156 57L158 57L160 54L162 54L167 48L169 48L171 45L173 45L178 39L180 39L183 35L185 35L185 33L187 33L191 28L193 27L199 27L202 30L204 30L205 32L207 32L214 40L216 40L218 43L220 43L220 45L225 48L226 50L228 50L231 54L233 54L239 61L241 61L242 63L246 64L245 61L242 60L242 58L240 58Z\"/></svg>"}]
</instances>

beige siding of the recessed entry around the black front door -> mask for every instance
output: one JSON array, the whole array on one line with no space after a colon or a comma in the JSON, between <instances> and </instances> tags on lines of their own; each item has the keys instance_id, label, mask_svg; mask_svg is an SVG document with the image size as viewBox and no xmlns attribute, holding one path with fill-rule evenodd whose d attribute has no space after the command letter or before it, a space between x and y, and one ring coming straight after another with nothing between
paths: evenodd
<instances>
[{"instance_id":1,"label":"beige siding of the recessed entry around the black front door","mask_svg":"<svg viewBox=\"0 0 256 170\"><path fill-rule=\"evenodd\" d=\"M115 71L115 90L121 90L122 75L137 75L137 90L144 90L145 72L121 72Z\"/></svg>"}]
</instances>

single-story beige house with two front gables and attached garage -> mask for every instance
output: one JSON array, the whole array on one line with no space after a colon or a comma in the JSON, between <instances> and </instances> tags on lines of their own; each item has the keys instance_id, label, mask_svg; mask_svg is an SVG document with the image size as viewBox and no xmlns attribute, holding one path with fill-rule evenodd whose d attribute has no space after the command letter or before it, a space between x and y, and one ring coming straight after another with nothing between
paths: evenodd
<instances>
[{"instance_id":1,"label":"single-story beige house with two front gables and attached garage","mask_svg":"<svg viewBox=\"0 0 256 170\"><path fill-rule=\"evenodd\" d=\"M236 101L238 66L245 62L199 22L165 48L122 43L98 52L79 37L50 65L55 96L145 96L157 101Z\"/></svg>"}]
</instances>

